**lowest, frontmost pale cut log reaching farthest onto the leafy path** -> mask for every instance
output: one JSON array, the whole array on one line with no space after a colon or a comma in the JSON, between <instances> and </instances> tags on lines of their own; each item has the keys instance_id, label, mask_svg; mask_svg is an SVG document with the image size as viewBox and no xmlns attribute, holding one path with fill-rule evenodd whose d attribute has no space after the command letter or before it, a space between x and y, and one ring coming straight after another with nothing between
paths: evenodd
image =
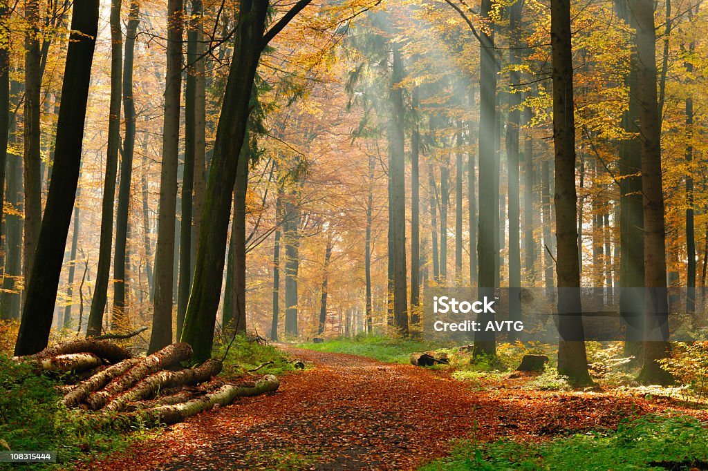
<instances>
[{"instance_id":1,"label":"lowest, frontmost pale cut log reaching farthest onto the leafy path","mask_svg":"<svg viewBox=\"0 0 708 471\"><path fill-rule=\"evenodd\" d=\"M265 375L253 386L236 386L227 384L221 388L210 392L199 399L182 402L176 405L163 405L132 412L132 418L143 422L159 422L161 424L176 424L187 417L199 414L202 411L211 409L215 405L224 406L231 404L236 397L249 397L265 392L273 392L280 387L280 381L273 375Z\"/></svg>"}]
</instances>

